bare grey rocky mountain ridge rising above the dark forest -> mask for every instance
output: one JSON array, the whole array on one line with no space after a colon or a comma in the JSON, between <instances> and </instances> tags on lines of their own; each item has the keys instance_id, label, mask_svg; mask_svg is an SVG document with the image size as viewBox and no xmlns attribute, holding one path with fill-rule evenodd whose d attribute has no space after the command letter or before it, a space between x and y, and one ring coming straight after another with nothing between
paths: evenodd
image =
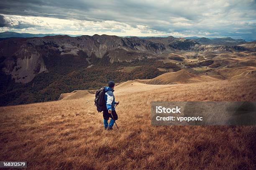
<instances>
[{"instance_id":1,"label":"bare grey rocky mountain ridge rising above the dark forest","mask_svg":"<svg viewBox=\"0 0 256 170\"><path fill-rule=\"evenodd\" d=\"M27 83L41 73L47 72L46 62L53 63L57 57L80 57L90 63L93 57L109 57L110 62L131 62L177 51L234 52L246 50L232 38L184 39L169 37L118 37L110 35L82 35L70 37L55 35L45 37L9 38L0 41L2 69L15 82ZM60 59L60 60L61 60ZM49 67L49 66L48 66Z\"/></svg>"}]
</instances>

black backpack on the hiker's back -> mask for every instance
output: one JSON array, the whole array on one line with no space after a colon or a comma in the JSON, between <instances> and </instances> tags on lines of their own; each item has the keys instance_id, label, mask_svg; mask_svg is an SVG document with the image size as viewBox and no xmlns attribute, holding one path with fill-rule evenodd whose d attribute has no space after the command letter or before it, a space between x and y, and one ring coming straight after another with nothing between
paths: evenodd
<instances>
[{"instance_id":1,"label":"black backpack on the hiker's back","mask_svg":"<svg viewBox=\"0 0 256 170\"><path fill-rule=\"evenodd\" d=\"M105 88L100 87L95 94L95 106L97 107L98 112L102 112L103 110L106 110L106 102L104 100L105 95Z\"/></svg>"}]
</instances>

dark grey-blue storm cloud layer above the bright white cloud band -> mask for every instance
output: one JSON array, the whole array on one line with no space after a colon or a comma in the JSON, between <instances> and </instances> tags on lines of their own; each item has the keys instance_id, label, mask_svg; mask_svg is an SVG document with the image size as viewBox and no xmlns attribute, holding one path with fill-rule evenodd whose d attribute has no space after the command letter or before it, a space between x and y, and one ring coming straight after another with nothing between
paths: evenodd
<instances>
[{"instance_id":1,"label":"dark grey-blue storm cloud layer above the bright white cloud band","mask_svg":"<svg viewBox=\"0 0 256 170\"><path fill-rule=\"evenodd\" d=\"M248 34L246 37L251 32L251 37L256 39L253 35L255 9L255 0L2 0L0 4L0 14L5 15L95 22L113 20L133 28L146 26L147 30L141 32L191 32L202 36ZM6 24L2 20L1 24Z\"/></svg>"}]
</instances>

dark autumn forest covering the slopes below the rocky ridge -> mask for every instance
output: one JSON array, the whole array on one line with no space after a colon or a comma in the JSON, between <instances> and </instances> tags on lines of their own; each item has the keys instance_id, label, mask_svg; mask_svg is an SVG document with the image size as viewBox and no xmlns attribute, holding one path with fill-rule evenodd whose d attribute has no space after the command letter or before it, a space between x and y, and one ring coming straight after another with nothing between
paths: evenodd
<instances>
[{"instance_id":1,"label":"dark autumn forest covering the slopes below the rocky ridge","mask_svg":"<svg viewBox=\"0 0 256 170\"><path fill-rule=\"evenodd\" d=\"M134 60L133 62L110 63L108 57L61 56L44 58L49 72L38 74L26 84L15 83L10 75L6 75L0 68L0 105L19 105L33 102L58 100L61 93L74 90L97 89L110 80L123 82L134 79L151 79L164 71L157 68L180 68L174 63L163 63L156 59ZM87 66L92 65L87 68ZM131 72L121 72L118 67L140 66Z\"/></svg>"}]
</instances>

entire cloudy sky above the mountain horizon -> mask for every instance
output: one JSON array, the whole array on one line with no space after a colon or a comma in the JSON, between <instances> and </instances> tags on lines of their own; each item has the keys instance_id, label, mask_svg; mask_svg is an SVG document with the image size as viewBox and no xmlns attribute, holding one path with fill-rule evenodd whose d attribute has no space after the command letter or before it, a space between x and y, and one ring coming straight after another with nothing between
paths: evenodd
<instances>
[{"instance_id":1,"label":"entire cloudy sky above the mountain horizon","mask_svg":"<svg viewBox=\"0 0 256 170\"><path fill-rule=\"evenodd\" d=\"M4 31L256 40L256 0L1 0Z\"/></svg>"}]
</instances>

